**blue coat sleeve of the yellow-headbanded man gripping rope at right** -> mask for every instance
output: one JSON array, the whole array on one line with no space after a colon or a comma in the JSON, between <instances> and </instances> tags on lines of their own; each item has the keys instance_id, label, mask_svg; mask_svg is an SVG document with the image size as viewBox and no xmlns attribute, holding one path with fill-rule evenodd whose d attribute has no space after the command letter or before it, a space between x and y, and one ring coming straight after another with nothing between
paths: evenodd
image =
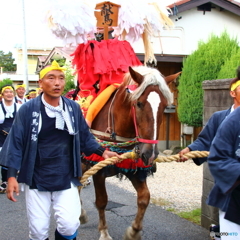
<instances>
[{"instance_id":1,"label":"blue coat sleeve of the yellow-headbanded man gripping rope at right","mask_svg":"<svg viewBox=\"0 0 240 240\"><path fill-rule=\"evenodd\" d=\"M203 130L199 133L197 139L192 144L188 145L188 148L191 151L209 151L218 127L230 112L231 108L215 112L209 118ZM207 161L207 158L194 158L193 161L195 164L201 165L203 162Z\"/></svg>"}]
</instances>

